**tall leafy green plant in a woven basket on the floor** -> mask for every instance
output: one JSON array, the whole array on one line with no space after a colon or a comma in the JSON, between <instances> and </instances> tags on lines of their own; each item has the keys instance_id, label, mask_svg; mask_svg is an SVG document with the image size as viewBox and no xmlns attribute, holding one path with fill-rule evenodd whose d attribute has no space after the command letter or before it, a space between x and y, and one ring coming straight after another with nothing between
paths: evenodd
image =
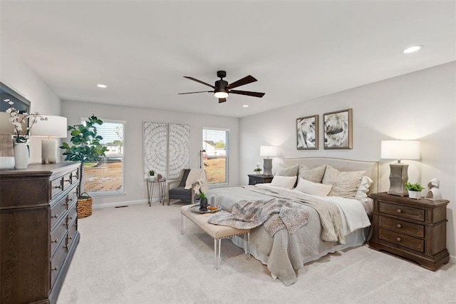
<instances>
[{"instance_id":1,"label":"tall leafy green plant in a woven basket on the floor","mask_svg":"<svg viewBox=\"0 0 456 304\"><path fill-rule=\"evenodd\" d=\"M97 135L97 128L95 127L95 125L101 126L102 124L103 121L92 114L85 125L68 126L68 131L71 131L72 146L68 143L62 143L62 146L58 147L65 150L63 155L66 156L66 161L81 163L78 186L78 218L85 218L92 214L92 198L81 189L83 166L84 163L98 162L98 158L105 156L105 152L108 151L108 148L101 145L100 141L103 137Z\"/></svg>"}]
</instances>

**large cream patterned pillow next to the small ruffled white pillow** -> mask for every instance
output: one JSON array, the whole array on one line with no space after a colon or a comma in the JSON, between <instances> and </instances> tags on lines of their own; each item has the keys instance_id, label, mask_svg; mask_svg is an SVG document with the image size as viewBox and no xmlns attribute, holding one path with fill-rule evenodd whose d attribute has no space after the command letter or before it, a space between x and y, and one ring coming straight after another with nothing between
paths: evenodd
<instances>
[{"instance_id":1,"label":"large cream patterned pillow next to the small ruffled white pillow","mask_svg":"<svg viewBox=\"0 0 456 304\"><path fill-rule=\"evenodd\" d=\"M366 174L366 171L338 171L331 166L326 166L323 183L333 186L328 196L355 198L364 174Z\"/></svg>"}]
</instances>

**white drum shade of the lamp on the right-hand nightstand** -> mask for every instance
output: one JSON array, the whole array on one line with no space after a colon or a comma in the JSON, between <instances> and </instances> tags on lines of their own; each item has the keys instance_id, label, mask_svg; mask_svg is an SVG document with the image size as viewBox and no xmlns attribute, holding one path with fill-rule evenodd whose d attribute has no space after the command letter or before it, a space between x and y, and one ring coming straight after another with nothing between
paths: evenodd
<instances>
[{"instance_id":1,"label":"white drum shade of the lamp on the right-hand nightstand","mask_svg":"<svg viewBox=\"0 0 456 304\"><path fill-rule=\"evenodd\" d=\"M382 141L382 159L420 159L420 141Z\"/></svg>"}]
</instances>

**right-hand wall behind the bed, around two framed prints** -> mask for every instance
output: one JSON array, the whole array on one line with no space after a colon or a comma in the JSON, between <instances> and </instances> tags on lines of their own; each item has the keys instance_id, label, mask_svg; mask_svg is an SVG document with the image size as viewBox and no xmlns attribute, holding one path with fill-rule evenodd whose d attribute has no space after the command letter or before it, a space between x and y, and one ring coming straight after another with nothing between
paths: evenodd
<instances>
[{"instance_id":1,"label":"right-hand wall behind the bed, around two framed prints","mask_svg":"<svg viewBox=\"0 0 456 304\"><path fill-rule=\"evenodd\" d=\"M324 156L380 160L383 139L419 139L421 160L409 163L409 181L440 180L447 208L447 248L456 255L456 62L371 83L310 101L241 118L239 182L247 183L260 145L280 146L285 158ZM286 96L284 96L286 98ZM323 113L353 108L353 149L323 149ZM296 149L296 118L319 115L320 148ZM280 163L274 159L274 164ZM389 163L382 161L380 191L389 188ZM425 192L423 192L425 195Z\"/></svg>"}]
</instances>

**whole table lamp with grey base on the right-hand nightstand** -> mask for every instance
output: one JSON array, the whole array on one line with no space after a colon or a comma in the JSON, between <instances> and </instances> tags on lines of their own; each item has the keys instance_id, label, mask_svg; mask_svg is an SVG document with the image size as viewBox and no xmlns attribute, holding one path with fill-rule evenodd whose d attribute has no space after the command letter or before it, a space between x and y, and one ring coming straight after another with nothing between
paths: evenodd
<instances>
[{"instance_id":1,"label":"whole table lamp with grey base on the right-hand nightstand","mask_svg":"<svg viewBox=\"0 0 456 304\"><path fill-rule=\"evenodd\" d=\"M408 181L408 164L401 163L403 159L420 159L420 141L382 141L382 159L397 159L390 163L390 190L394 196L408 196L405 183Z\"/></svg>"}]
</instances>

